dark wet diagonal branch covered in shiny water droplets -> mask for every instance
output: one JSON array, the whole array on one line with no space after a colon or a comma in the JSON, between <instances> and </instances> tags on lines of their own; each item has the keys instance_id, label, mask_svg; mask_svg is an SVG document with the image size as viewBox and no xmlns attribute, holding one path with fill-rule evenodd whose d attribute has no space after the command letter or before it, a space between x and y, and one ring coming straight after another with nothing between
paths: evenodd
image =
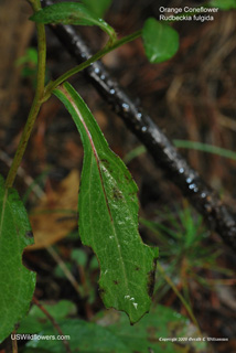
<instances>
[{"instance_id":1,"label":"dark wet diagonal branch covered in shiny water droplets","mask_svg":"<svg viewBox=\"0 0 236 353\"><path fill-rule=\"evenodd\" d=\"M50 1L43 0L44 4ZM51 26L62 44L78 63L92 56L83 39L69 25ZM236 249L235 216L222 203L218 195L208 188L185 159L176 151L165 135L158 128L151 117L142 110L110 77L100 62L96 62L85 75L122 118L127 127L139 138L155 164L180 188L183 195L203 215L210 228L216 231L223 240Z\"/></svg>"}]
</instances>

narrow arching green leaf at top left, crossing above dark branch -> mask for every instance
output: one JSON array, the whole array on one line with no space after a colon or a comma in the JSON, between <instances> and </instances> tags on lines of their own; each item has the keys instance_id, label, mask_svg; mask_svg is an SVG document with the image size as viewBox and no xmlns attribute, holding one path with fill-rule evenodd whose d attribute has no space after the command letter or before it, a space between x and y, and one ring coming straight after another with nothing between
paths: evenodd
<instances>
[{"instance_id":1,"label":"narrow arching green leaf at top left, crossing above dark branch","mask_svg":"<svg viewBox=\"0 0 236 353\"><path fill-rule=\"evenodd\" d=\"M89 11L79 2L58 2L49 6L36 13L30 20L37 23L63 23L77 25L98 25L109 36L111 42L116 40L115 30L103 19Z\"/></svg>"}]
</instances>

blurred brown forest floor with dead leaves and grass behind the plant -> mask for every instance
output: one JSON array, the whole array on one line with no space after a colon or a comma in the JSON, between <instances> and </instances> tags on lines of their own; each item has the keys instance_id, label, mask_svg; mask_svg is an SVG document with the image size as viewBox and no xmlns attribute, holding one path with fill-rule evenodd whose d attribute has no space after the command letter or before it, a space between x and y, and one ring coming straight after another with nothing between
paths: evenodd
<instances>
[{"instance_id":1,"label":"blurred brown forest floor with dead leaves and grass behind the plant","mask_svg":"<svg viewBox=\"0 0 236 353\"><path fill-rule=\"evenodd\" d=\"M201 3L114 0L105 19L121 38L141 29L149 17L159 19L161 6ZM0 1L0 173L3 176L19 143L35 88L36 35L34 24L28 21L30 14L26 1ZM150 64L139 39L108 54L103 62L204 181L236 212L236 12L219 11L214 14L214 21L182 21L173 26L180 34L180 50L172 60ZM95 28L77 31L94 52L106 43L106 35ZM50 30L46 33L49 81L71 68L75 61ZM72 83L139 186L140 232L146 243L160 247L160 264L165 272L164 277L159 268L154 304L162 303L189 314L168 284L167 276L170 277L192 308L202 332L213 338L229 338L228 342L213 342L208 352L236 351L235 254L216 234L210 234L174 181L167 180L143 150L137 152L138 139L83 74L76 75ZM182 140L187 143L183 146ZM194 142L201 142L203 151ZM75 232L75 190L78 190L82 163L83 148L74 122L52 97L40 113L15 182L31 214L37 244L24 258L39 274L37 299L69 299L76 303L79 317L90 319L103 303L97 290L96 259L82 246ZM75 260L74 249L79 249L79 258L84 256L83 264ZM89 267L93 261L94 267ZM75 282L85 288L84 293L58 269L62 263Z\"/></svg>"}]
</instances>

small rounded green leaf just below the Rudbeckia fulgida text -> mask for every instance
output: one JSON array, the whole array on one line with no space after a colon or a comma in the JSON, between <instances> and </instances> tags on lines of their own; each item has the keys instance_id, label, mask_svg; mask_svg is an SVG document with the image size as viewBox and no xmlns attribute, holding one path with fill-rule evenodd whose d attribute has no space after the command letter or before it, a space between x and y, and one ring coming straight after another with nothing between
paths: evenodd
<instances>
[{"instance_id":1,"label":"small rounded green leaf just below the Rudbeckia fulgida text","mask_svg":"<svg viewBox=\"0 0 236 353\"><path fill-rule=\"evenodd\" d=\"M171 58L179 50L179 34L169 24L150 18L142 29L146 55L153 64Z\"/></svg>"}]
</instances>

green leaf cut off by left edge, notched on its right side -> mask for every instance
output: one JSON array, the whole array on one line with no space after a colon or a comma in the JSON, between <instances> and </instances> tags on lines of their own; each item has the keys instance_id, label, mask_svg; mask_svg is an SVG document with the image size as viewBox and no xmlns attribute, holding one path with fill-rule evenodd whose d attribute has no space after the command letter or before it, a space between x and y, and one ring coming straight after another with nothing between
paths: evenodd
<instances>
[{"instance_id":1,"label":"green leaf cut off by left edge, notched on its right side","mask_svg":"<svg viewBox=\"0 0 236 353\"><path fill-rule=\"evenodd\" d=\"M28 312L36 276L22 265L22 253L33 244L26 211L0 176L0 342Z\"/></svg>"}]
</instances>

